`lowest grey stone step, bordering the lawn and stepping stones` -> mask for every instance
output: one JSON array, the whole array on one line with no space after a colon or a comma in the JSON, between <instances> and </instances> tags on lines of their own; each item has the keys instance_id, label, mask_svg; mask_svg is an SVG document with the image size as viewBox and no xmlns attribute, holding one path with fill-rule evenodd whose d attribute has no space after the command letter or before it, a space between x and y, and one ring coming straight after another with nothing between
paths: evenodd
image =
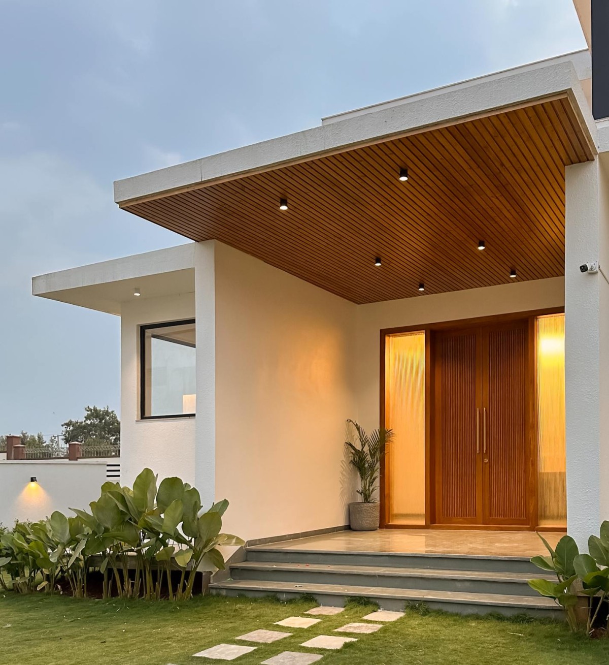
<instances>
[{"instance_id":1,"label":"lowest grey stone step, bordering the lawn and stepping stones","mask_svg":"<svg viewBox=\"0 0 609 665\"><path fill-rule=\"evenodd\" d=\"M425 603L431 609L460 614L487 614L499 612L507 616L525 612L531 616L563 618L551 599L519 595L466 593L463 591L430 591L425 589L394 589L391 587L363 587L359 585L326 585L289 583L268 580L227 580L210 585L210 592L219 596L264 597L274 595L280 600L310 594L325 605L342 605L349 598L373 600L385 610L400 611L405 604Z\"/></svg>"}]
</instances>

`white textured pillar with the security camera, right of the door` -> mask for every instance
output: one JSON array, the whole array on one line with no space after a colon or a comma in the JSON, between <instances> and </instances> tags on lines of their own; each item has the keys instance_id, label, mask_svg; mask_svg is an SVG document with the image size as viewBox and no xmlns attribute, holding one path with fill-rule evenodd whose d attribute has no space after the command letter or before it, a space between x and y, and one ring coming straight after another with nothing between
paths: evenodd
<instances>
[{"instance_id":1,"label":"white textured pillar with the security camera, right of the door","mask_svg":"<svg viewBox=\"0 0 609 665\"><path fill-rule=\"evenodd\" d=\"M565 374L567 529L580 549L601 521L600 253L598 161L566 168ZM609 265L607 266L609 268ZM605 315L607 312L605 311ZM609 405L607 405L609 406Z\"/></svg>"}]
</instances>

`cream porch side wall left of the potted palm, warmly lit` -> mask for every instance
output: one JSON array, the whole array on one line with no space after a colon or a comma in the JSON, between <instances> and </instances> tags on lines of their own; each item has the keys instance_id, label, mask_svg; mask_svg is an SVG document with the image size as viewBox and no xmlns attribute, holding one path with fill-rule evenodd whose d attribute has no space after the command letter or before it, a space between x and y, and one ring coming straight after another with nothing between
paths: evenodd
<instances>
[{"instance_id":1,"label":"cream porch side wall left of the potted palm, warmly lit","mask_svg":"<svg viewBox=\"0 0 609 665\"><path fill-rule=\"evenodd\" d=\"M344 525L356 306L220 243L215 263L224 529L248 539Z\"/></svg>"}]
</instances>

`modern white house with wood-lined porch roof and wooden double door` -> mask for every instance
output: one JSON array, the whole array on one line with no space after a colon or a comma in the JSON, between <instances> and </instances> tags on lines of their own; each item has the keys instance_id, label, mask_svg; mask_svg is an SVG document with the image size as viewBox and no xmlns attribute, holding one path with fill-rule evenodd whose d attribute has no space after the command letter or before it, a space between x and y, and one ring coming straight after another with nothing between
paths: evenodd
<instances>
[{"instance_id":1,"label":"modern white house with wood-lined porch roof and wooden double door","mask_svg":"<svg viewBox=\"0 0 609 665\"><path fill-rule=\"evenodd\" d=\"M122 482L179 475L246 539L342 527L353 418L395 432L383 526L585 543L609 518L594 53L116 182L191 242L33 293L121 318Z\"/></svg>"}]
</instances>

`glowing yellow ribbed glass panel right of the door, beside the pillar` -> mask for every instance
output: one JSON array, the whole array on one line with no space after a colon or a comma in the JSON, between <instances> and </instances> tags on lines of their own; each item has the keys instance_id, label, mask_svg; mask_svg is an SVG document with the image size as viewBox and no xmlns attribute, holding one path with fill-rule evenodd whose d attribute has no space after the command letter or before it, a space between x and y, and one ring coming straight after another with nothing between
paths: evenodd
<instances>
[{"instance_id":1,"label":"glowing yellow ribbed glass panel right of the door, beside the pillar","mask_svg":"<svg viewBox=\"0 0 609 665\"><path fill-rule=\"evenodd\" d=\"M539 526L566 527L565 315L537 318Z\"/></svg>"}]
</instances>

